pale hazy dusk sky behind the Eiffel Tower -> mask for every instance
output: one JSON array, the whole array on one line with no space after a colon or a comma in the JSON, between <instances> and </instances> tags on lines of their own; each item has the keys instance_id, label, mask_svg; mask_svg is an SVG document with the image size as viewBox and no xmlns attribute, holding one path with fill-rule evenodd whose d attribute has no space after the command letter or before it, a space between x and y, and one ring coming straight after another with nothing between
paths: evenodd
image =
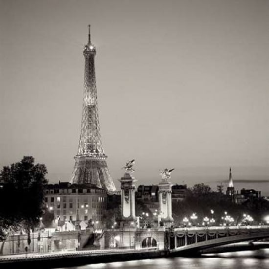
<instances>
[{"instance_id":1,"label":"pale hazy dusk sky behind the Eiffel Tower","mask_svg":"<svg viewBox=\"0 0 269 269\"><path fill-rule=\"evenodd\" d=\"M88 24L116 186L134 158L137 184L175 168L216 189L231 166L269 195L268 0L0 0L0 167L31 155L70 180Z\"/></svg>"}]
</instances>

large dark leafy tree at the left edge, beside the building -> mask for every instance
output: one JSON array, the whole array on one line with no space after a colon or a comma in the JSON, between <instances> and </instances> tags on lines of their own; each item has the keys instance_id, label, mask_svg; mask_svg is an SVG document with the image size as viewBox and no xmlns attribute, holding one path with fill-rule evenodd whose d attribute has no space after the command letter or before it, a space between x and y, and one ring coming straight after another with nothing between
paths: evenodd
<instances>
[{"instance_id":1,"label":"large dark leafy tree at the left edge, beside the building","mask_svg":"<svg viewBox=\"0 0 269 269\"><path fill-rule=\"evenodd\" d=\"M24 156L20 162L4 166L1 170L3 187L0 188L0 239L2 241L10 231L23 227L30 244L30 230L40 224L40 217L43 214L46 173L45 165L34 164L32 156ZM3 244L1 249L2 247Z\"/></svg>"}]
</instances>

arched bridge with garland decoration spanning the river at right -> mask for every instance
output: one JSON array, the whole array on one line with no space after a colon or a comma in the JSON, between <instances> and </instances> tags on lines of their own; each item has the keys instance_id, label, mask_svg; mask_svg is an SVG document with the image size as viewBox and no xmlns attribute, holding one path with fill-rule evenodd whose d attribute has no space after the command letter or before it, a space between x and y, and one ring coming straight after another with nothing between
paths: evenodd
<instances>
[{"instance_id":1,"label":"arched bridge with garland decoration spanning the river at right","mask_svg":"<svg viewBox=\"0 0 269 269\"><path fill-rule=\"evenodd\" d=\"M269 226L212 226L175 228L167 232L172 256L199 253L203 249L231 243L269 238Z\"/></svg>"}]
</instances>

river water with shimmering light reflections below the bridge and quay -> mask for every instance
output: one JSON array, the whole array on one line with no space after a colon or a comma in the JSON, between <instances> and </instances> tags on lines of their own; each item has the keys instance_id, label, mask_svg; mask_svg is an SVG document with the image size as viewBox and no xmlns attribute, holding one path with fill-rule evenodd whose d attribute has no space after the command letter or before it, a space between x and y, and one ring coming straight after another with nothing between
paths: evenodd
<instances>
[{"instance_id":1,"label":"river water with shimmering light reflections below the bridge and quay","mask_svg":"<svg viewBox=\"0 0 269 269\"><path fill-rule=\"evenodd\" d=\"M72 269L269 269L269 248L207 254L199 258L178 257L92 264Z\"/></svg>"}]
</instances>

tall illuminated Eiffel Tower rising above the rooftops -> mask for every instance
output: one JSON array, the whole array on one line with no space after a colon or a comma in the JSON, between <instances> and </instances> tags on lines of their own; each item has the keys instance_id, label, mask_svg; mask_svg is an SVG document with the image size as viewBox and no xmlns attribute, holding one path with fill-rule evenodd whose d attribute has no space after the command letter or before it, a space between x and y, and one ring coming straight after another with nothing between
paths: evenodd
<instances>
[{"instance_id":1,"label":"tall illuminated Eiffel Tower rising above the rooftops","mask_svg":"<svg viewBox=\"0 0 269 269\"><path fill-rule=\"evenodd\" d=\"M96 48L90 41L90 25L89 41L83 55L85 71L81 131L71 183L90 183L111 193L116 189L109 173L100 134L94 67Z\"/></svg>"}]
</instances>

